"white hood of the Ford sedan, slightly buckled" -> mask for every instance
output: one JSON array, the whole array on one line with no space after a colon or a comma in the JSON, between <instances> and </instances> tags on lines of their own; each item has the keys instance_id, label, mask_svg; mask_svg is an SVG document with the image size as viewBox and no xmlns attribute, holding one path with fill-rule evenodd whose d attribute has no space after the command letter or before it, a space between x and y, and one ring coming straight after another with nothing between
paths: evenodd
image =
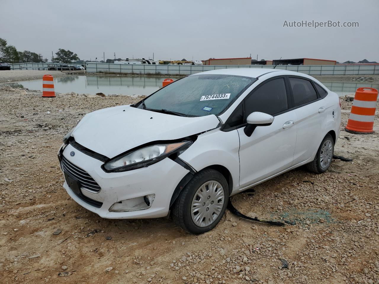
<instances>
[{"instance_id":1,"label":"white hood of the Ford sedan, slightly buckled","mask_svg":"<svg viewBox=\"0 0 379 284\"><path fill-rule=\"evenodd\" d=\"M80 145L113 158L149 142L174 140L216 128L215 115L181 117L132 106L116 106L86 114L72 136Z\"/></svg>"}]
</instances>

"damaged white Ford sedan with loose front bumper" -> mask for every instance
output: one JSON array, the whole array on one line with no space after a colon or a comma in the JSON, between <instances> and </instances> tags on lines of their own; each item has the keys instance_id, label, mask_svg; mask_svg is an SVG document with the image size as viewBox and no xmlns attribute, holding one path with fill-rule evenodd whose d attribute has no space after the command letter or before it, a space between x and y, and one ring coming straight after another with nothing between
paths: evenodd
<instances>
[{"instance_id":1,"label":"damaged white Ford sedan with loose front bumper","mask_svg":"<svg viewBox=\"0 0 379 284\"><path fill-rule=\"evenodd\" d=\"M133 105L86 114L58 152L64 189L112 219L164 217L205 233L229 197L306 165L323 173L340 134L338 95L312 76L219 69Z\"/></svg>"}]
</instances>

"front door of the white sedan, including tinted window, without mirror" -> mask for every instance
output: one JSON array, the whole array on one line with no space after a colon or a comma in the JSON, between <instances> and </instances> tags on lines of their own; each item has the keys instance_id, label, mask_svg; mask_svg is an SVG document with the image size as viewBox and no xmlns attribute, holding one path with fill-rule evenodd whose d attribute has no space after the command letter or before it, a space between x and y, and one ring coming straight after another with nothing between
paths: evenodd
<instances>
[{"instance_id":1,"label":"front door of the white sedan, including tinted window, without mirror","mask_svg":"<svg viewBox=\"0 0 379 284\"><path fill-rule=\"evenodd\" d=\"M288 111L288 93L285 77L279 76L266 80L244 99L244 122L254 111L271 114L274 121L268 126L257 126L250 137L244 133L244 127L238 128L241 188L292 165L297 117L294 111Z\"/></svg>"}]
</instances>

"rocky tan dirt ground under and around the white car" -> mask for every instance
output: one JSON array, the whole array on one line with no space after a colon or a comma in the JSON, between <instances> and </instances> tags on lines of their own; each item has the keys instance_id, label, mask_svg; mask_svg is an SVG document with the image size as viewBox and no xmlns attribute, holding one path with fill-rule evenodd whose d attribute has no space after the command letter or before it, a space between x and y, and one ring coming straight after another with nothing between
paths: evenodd
<instances>
[{"instance_id":1,"label":"rocky tan dirt ground under and around the white car","mask_svg":"<svg viewBox=\"0 0 379 284\"><path fill-rule=\"evenodd\" d=\"M84 114L133 100L0 85L1 283L378 283L378 115L374 134L341 131L335 154L352 162L292 170L232 198L244 214L290 224L227 211L194 236L168 218L102 219L62 187L62 137Z\"/></svg>"}]
</instances>

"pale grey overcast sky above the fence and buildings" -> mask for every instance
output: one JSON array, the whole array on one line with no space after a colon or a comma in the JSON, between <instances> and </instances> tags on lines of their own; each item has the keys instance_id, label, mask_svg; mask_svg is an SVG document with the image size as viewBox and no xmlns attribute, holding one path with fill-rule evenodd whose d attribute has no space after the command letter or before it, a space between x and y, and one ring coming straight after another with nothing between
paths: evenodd
<instances>
[{"instance_id":1,"label":"pale grey overcast sky above the fence and buildings","mask_svg":"<svg viewBox=\"0 0 379 284\"><path fill-rule=\"evenodd\" d=\"M0 0L0 37L51 58L319 58L379 62L377 0ZM357 28L290 28L302 20Z\"/></svg>"}]
</instances>

